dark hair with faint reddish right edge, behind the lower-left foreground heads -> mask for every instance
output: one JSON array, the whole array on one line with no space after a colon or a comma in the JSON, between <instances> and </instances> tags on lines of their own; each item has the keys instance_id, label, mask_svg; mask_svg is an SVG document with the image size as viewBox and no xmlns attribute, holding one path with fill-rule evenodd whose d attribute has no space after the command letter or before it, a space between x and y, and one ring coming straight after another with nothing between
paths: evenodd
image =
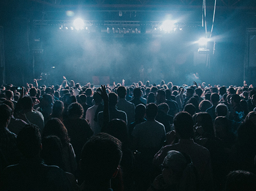
<instances>
[{"instance_id":1,"label":"dark hair with faint reddish right edge, behind the lower-left foreground heads","mask_svg":"<svg viewBox=\"0 0 256 191\"><path fill-rule=\"evenodd\" d=\"M55 135L60 138L63 147L69 144L70 138L65 125L58 118L51 118L45 125L42 136Z\"/></svg>"}]
</instances>

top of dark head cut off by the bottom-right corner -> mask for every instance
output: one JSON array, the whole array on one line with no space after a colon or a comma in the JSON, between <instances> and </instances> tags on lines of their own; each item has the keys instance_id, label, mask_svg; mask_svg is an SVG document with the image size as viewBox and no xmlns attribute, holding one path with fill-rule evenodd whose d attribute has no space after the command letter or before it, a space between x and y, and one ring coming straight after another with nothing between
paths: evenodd
<instances>
[{"instance_id":1,"label":"top of dark head cut off by the bottom-right corner","mask_svg":"<svg viewBox=\"0 0 256 191\"><path fill-rule=\"evenodd\" d=\"M256 175L248 171L232 171L227 175L226 191L256 190Z\"/></svg>"}]
</instances>

